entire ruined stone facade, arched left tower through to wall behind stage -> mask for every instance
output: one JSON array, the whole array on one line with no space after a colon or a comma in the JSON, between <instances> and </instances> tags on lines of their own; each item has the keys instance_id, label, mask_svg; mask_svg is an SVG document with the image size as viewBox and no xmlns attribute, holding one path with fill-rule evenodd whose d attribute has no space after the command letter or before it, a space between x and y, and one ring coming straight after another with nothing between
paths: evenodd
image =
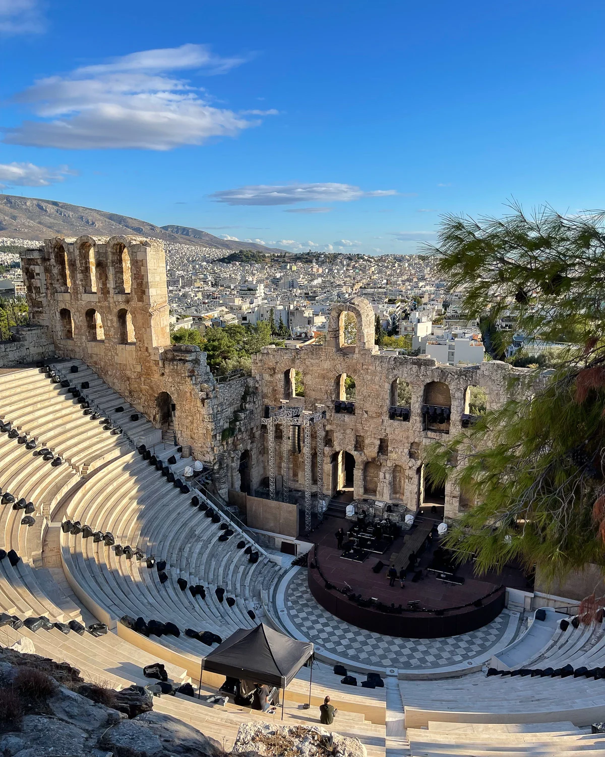
<instances>
[{"instance_id":1,"label":"entire ruined stone facade, arched left tower through to wall behind stage","mask_svg":"<svg viewBox=\"0 0 605 757\"><path fill-rule=\"evenodd\" d=\"M453 368L426 357L380 352L374 344L372 307L355 298L333 308L326 344L265 347L253 356L252 378L219 383L198 347L170 344L160 242L57 237L40 250L24 252L22 267L30 319L50 335L56 354L84 360L158 428L190 445L197 459L213 466L224 496L228 489L253 494L265 481L268 447L262 412L287 399L310 411L316 404L325 406L319 444L326 494L349 484L355 499L415 511L425 501L423 445L460 430L470 387L486 391L488 409L498 407L508 396L510 380L524 372L495 361ZM356 322L355 344L346 344L346 313ZM304 397L296 396L296 376L304 382ZM315 489L317 444L314 434ZM299 429L292 429L285 446L290 450L290 488L302 489ZM278 427L278 475L283 449ZM451 483L443 497L448 517L472 504Z\"/></svg>"}]
</instances>

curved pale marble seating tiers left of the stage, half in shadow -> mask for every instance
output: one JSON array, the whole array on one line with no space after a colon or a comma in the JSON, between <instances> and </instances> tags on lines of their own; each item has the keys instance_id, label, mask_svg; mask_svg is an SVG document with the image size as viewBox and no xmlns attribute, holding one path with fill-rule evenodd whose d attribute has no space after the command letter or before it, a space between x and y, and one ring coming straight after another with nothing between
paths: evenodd
<instances>
[{"instance_id":1,"label":"curved pale marble seating tiers left of the stage, half in shadow","mask_svg":"<svg viewBox=\"0 0 605 757\"><path fill-rule=\"evenodd\" d=\"M78 373L70 373L72 364L79 366ZM248 562L244 550L236 547L244 535L226 516L222 516L222 522L234 530L234 535L226 542L219 542L220 523L213 523L192 507L191 494L182 494L132 451L133 438L137 443L141 439L151 444L160 440L144 416L139 414L138 421L129 426L124 416L134 410L83 363L66 361L57 363L55 368L70 378L73 385L88 381L91 388L97 388L96 407L104 417L119 422L129 438L110 435L98 422L83 416L82 408L67 388L51 383L44 372L36 369L2 372L0 419L4 423L10 421L21 437L35 440L36 449L27 449L26 444L18 444L17 438L0 434L0 489L10 491L15 500L23 497L31 501L35 508L32 513L35 522L28 527L21 523L23 509L13 509L12 503L0 506L0 547L6 552L14 550L20 556L14 566L6 557L0 560L0 612L21 620L45 616L51 622L74 620L82 625L102 621L104 615L113 619L115 625L116 618L128 613L135 617L144 615L147 620L172 620L182 630L187 627L209 630L223 638L235 628L255 625L247 609L255 607L259 615L256 622L262 620L262 611L257 606L260 593L266 593L275 580L278 565L256 544L253 548L262 556L255 564ZM124 407L124 413L112 416L114 407ZM62 464L53 466L51 460L36 454L41 447L48 447ZM164 462L172 455L180 457L176 447L163 443L157 444L156 453ZM170 467L178 476L188 462L191 461L178 459ZM79 519L82 525L91 525L95 531L113 531L116 544L139 547L147 556L153 554L157 560L166 560L169 581L161 584L157 569L147 569L144 561L134 557L116 556L115 550L105 547L103 542L94 544L92 538L84 539L82 534L62 534L59 526L66 518ZM56 562L49 567L42 564L42 546L48 553L53 540L60 547L56 557L64 559L71 585ZM248 537L245 540L250 543ZM206 600L181 591L176 584L179 577L186 578L189 584L203 584ZM214 592L219 586L225 589L222 603ZM78 590L77 596L73 587ZM226 597L234 597L234 606L228 605ZM90 612L88 607L101 613ZM178 639L169 637L169 644L163 637L161 643L166 646L156 643L149 651L146 648L149 640L145 637L131 634L131 638L138 637L135 640L140 644L131 643L115 631L114 628L101 637L88 632L82 636L70 632L66 636L58 628L34 633L26 626L16 630L5 625L0 633L6 643L27 637L33 641L36 653L67 660L82 671L86 680L116 688L148 684L142 668L157 661L166 665L169 680L175 685L191 682L188 670L172 662L172 651L178 655L185 653L199 665L201 656L209 650L182 634ZM315 704L329 692L340 707L340 733L359 737L371 757L383 757L383 690L351 691L334 684L333 677L324 671L315 671L314 678ZM298 709L298 702L308 696L304 674L290 684L290 689L287 721L299 724L315 721ZM203 684L200 691L214 690ZM180 694L156 699L154 708L175 715L218 740L226 738L227 743L234 740L241 723L251 719L271 720L271 716L246 708L212 706ZM368 713L372 719L366 717Z\"/></svg>"}]
</instances>

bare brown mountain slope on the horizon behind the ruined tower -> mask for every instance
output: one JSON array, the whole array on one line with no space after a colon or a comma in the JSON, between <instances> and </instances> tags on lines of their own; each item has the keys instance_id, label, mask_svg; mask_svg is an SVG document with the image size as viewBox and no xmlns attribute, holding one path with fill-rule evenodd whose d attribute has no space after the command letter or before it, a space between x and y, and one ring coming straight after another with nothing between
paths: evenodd
<instances>
[{"instance_id":1,"label":"bare brown mountain slope on the horizon behind the ruined tower","mask_svg":"<svg viewBox=\"0 0 605 757\"><path fill-rule=\"evenodd\" d=\"M253 242L220 239L188 226L155 226L148 221L121 216L119 213L107 213L105 210L95 210L92 207L17 195L0 195L0 236L44 239L57 234L114 236L133 233L175 244L213 247L225 251L247 249L268 253L283 252Z\"/></svg>"}]
</instances>

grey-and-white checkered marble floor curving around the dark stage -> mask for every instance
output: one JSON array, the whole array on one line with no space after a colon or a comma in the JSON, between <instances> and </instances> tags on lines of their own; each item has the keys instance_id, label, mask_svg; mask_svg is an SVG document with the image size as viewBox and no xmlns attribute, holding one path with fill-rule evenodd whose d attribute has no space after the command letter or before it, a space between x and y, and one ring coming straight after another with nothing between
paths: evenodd
<instances>
[{"instance_id":1,"label":"grey-and-white checkered marble floor curving around the dark stage","mask_svg":"<svg viewBox=\"0 0 605 757\"><path fill-rule=\"evenodd\" d=\"M361 665L384 668L440 668L489 653L504 635L508 615L501 614L489 625L470 634L443 639L405 639L375 634L330 615L312 596L306 571L299 570L285 591L290 622L309 641L327 653L346 657Z\"/></svg>"}]
</instances>

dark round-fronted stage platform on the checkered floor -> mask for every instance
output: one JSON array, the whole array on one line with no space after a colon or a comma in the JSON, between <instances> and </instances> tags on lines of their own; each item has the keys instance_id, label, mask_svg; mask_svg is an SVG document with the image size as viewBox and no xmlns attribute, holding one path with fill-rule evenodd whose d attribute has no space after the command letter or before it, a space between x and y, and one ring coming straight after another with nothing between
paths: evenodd
<instances>
[{"instance_id":1,"label":"dark round-fronted stage platform on the checkered floor","mask_svg":"<svg viewBox=\"0 0 605 757\"><path fill-rule=\"evenodd\" d=\"M429 536L430 518L417 519L411 531L386 543L380 540L374 552L365 555L354 551L346 556L337 549L335 531L340 526L347 531L352 523L331 518L314 534L309 590L331 615L366 631L412 639L467 634L498 617L504 608L505 579L507 585L525 585L515 569L508 571L510 575L486 578L473 574L472 562L442 570L444 550L436 537ZM420 559L408 570L405 587L399 578L389 586L389 565L408 566L412 550Z\"/></svg>"}]
</instances>

